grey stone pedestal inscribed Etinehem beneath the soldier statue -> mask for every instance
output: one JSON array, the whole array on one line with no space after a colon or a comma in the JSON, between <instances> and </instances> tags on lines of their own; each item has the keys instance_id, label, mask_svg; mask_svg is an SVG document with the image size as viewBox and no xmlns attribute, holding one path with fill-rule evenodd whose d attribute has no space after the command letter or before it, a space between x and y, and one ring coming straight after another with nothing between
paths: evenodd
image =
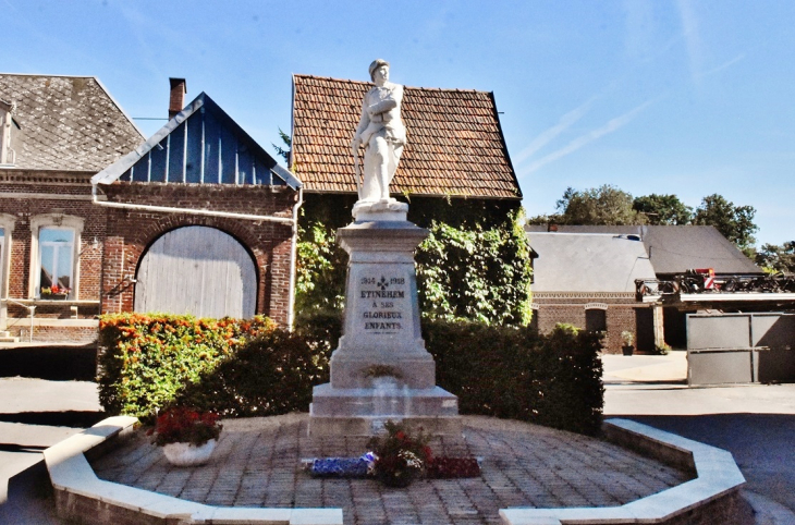
<instances>
[{"instance_id":1,"label":"grey stone pedestal inscribed Etinehem beneath the soldier statue","mask_svg":"<svg viewBox=\"0 0 795 525\"><path fill-rule=\"evenodd\" d=\"M414 251L428 232L405 220L406 205L381 207L338 232L350 255L343 337L331 382L313 392L309 432L374 435L388 419L460 432L457 398L436 386L420 334Z\"/></svg>"}]
</instances>

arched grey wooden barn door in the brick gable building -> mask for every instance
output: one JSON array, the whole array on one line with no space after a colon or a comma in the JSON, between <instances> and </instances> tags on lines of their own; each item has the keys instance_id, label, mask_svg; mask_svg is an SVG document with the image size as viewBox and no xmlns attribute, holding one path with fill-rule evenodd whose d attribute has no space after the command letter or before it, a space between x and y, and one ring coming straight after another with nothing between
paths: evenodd
<instances>
[{"instance_id":1,"label":"arched grey wooden barn door in the brick gable building","mask_svg":"<svg viewBox=\"0 0 795 525\"><path fill-rule=\"evenodd\" d=\"M138 266L135 312L254 317L257 276L248 252L215 228L172 230Z\"/></svg>"}]
</instances>

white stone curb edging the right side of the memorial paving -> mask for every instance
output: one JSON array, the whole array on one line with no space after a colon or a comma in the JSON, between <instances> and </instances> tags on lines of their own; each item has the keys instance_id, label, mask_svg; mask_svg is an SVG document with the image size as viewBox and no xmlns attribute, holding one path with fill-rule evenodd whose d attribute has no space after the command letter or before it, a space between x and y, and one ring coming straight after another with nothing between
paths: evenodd
<instances>
[{"instance_id":1,"label":"white stone curb edging the right side of the memorial paving","mask_svg":"<svg viewBox=\"0 0 795 525\"><path fill-rule=\"evenodd\" d=\"M690 464L697 477L622 506L577 509L501 509L505 525L655 524L697 509L745 485L734 457L714 447L664 432L628 419L609 419L606 434L624 443L632 440L663 462Z\"/></svg>"}]
</instances>

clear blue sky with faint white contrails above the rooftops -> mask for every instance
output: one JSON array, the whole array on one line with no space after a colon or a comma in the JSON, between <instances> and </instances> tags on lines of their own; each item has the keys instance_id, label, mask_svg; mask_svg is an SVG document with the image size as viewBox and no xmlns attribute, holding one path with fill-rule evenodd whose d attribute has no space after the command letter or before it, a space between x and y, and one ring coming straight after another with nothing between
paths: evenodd
<instances>
[{"instance_id":1,"label":"clear blue sky with faint white contrails above the rooftops","mask_svg":"<svg viewBox=\"0 0 795 525\"><path fill-rule=\"evenodd\" d=\"M795 240L795 2L0 0L2 70L94 75L162 118L187 78L268 147L292 73L493 91L528 215L567 186L719 193ZM163 121L136 121L149 135Z\"/></svg>"}]
</instances>

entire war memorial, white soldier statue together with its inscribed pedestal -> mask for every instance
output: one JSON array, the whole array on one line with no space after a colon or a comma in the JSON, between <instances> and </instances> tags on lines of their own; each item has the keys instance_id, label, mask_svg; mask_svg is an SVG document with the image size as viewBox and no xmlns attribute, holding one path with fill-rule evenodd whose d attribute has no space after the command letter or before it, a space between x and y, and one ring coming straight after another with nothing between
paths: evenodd
<instances>
[{"instance_id":1,"label":"entire war memorial, white soldier statue together with its inscribed pedestal","mask_svg":"<svg viewBox=\"0 0 795 525\"><path fill-rule=\"evenodd\" d=\"M406 144L403 86L389 82L384 60L369 71L376 85L364 97L351 142L358 202L354 222L338 230L350 257L342 338L331 355L331 382L313 391L309 432L375 435L392 419L430 434L460 434L457 398L436 386L419 327L414 251L428 232L406 220L407 204L389 195Z\"/></svg>"}]
</instances>

